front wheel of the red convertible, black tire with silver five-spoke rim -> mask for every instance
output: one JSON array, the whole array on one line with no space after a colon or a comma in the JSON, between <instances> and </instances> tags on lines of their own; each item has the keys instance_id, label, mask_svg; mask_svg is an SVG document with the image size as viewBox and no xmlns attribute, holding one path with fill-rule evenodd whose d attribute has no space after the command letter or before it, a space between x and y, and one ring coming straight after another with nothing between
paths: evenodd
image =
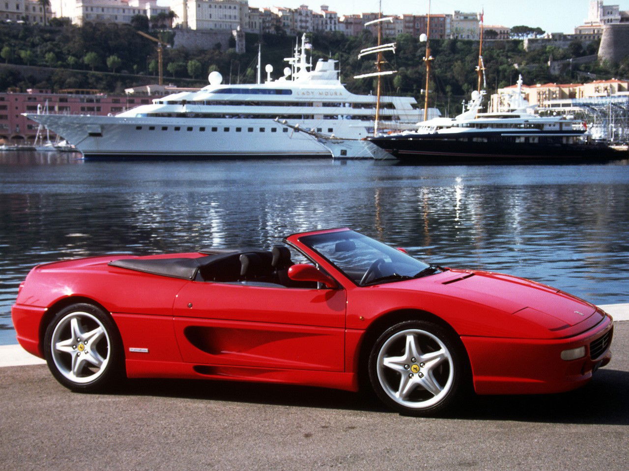
<instances>
[{"instance_id":1,"label":"front wheel of the red convertible, black tire with silver five-spoke rim","mask_svg":"<svg viewBox=\"0 0 629 471\"><path fill-rule=\"evenodd\" d=\"M401 322L382 333L368 368L378 398L413 416L451 412L469 382L462 345L445 328L421 320Z\"/></svg>"}]
</instances>

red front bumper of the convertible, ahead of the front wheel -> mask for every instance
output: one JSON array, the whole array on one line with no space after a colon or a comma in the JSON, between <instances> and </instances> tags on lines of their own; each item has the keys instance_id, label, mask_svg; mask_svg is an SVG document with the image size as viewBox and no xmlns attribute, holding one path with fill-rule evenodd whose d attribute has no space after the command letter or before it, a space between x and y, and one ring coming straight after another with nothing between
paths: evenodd
<instances>
[{"instance_id":1,"label":"red front bumper of the convertible, ahead of the front wheel","mask_svg":"<svg viewBox=\"0 0 629 471\"><path fill-rule=\"evenodd\" d=\"M461 337L469 355L477 394L548 394L576 389L611 360L607 347L591 352L613 333L609 315L586 332L557 340ZM562 360L561 352L586 347L586 356ZM594 357L591 354L594 353Z\"/></svg>"}]
</instances>

